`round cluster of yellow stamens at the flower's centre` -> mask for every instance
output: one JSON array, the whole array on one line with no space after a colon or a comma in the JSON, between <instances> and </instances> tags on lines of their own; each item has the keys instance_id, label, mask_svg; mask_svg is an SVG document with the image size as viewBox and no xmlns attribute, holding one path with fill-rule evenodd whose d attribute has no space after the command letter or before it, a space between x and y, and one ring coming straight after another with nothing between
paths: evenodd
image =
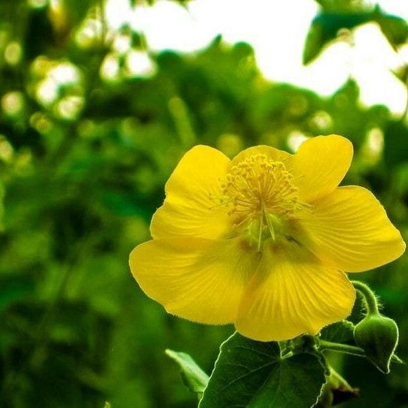
<instances>
[{"instance_id":1,"label":"round cluster of yellow stamens at the flower's centre","mask_svg":"<svg viewBox=\"0 0 408 408\"><path fill-rule=\"evenodd\" d=\"M220 205L229 206L233 227L257 242L288 236L288 222L307 205L298 198L293 176L282 162L253 155L231 167L221 184Z\"/></svg>"}]
</instances>

